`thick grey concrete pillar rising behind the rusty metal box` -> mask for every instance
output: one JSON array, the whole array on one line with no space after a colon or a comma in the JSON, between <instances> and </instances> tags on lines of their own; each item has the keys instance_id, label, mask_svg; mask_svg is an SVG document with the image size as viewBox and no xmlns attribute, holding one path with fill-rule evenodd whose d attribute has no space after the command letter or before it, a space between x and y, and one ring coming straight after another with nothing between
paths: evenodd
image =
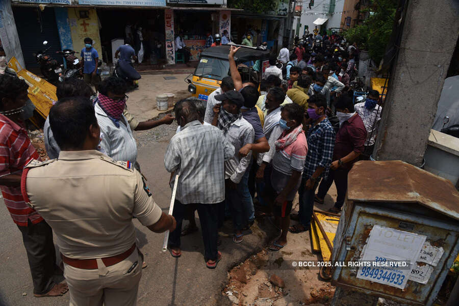
<instances>
[{"instance_id":1,"label":"thick grey concrete pillar rising behind the rusty metal box","mask_svg":"<svg viewBox=\"0 0 459 306\"><path fill-rule=\"evenodd\" d=\"M457 0L410 0L373 156L420 165L459 33Z\"/></svg>"}]
</instances>

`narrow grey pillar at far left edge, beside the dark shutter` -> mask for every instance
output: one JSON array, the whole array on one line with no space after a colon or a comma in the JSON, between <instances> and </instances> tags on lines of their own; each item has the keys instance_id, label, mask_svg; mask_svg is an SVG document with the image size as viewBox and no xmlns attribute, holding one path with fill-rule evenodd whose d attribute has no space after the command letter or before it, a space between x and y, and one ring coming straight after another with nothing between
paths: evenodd
<instances>
[{"instance_id":1,"label":"narrow grey pillar at far left edge, beside the dark shutter","mask_svg":"<svg viewBox=\"0 0 459 306\"><path fill-rule=\"evenodd\" d=\"M7 61L15 57L22 68L25 68L10 0L0 1L0 39L2 40Z\"/></svg>"}]
</instances>

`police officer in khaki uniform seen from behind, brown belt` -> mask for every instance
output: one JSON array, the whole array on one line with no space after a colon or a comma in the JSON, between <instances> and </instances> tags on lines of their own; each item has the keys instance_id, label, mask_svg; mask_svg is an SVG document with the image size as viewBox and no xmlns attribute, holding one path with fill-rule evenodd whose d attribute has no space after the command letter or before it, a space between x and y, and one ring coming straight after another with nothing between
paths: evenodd
<instances>
[{"instance_id":1,"label":"police officer in khaki uniform seen from behind, brown belt","mask_svg":"<svg viewBox=\"0 0 459 306\"><path fill-rule=\"evenodd\" d=\"M32 161L22 175L25 202L52 227L71 306L136 305L142 255L132 218L153 232L175 229L129 162L96 151L100 129L87 98L53 106L58 159Z\"/></svg>"}]
</instances>

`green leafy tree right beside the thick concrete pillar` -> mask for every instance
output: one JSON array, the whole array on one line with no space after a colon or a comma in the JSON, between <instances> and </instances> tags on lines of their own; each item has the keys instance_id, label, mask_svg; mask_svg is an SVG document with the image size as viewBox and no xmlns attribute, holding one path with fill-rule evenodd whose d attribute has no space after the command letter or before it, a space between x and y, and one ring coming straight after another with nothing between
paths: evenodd
<instances>
[{"instance_id":1,"label":"green leafy tree right beside the thick concrete pillar","mask_svg":"<svg viewBox=\"0 0 459 306\"><path fill-rule=\"evenodd\" d=\"M361 9L367 18L344 32L344 37L351 43L356 42L361 49L368 50L375 63L384 57L384 51L392 34L397 0L370 0L368 7Z\"/></svg>"}]
</instances>

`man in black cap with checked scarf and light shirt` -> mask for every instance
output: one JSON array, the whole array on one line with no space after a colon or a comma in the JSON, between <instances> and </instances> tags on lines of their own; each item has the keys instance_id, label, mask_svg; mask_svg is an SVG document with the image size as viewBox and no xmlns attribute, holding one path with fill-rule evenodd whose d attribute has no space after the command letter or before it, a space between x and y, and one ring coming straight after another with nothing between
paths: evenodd
<instances>
[{"instance_id":1,"label":"man in black cap with checked scarf and light shirt","mask_svg":"<svg viewBox=\"0 0 459 306\"><path fill-rule=\"evenodd\" d=\"M244 105L244 97L238 91L231 90L215 96L221 105L214 106L214 120L212 125L217 126L224 134L228 143L235 148L232 158L225 161L225 201L231 209L234 227L234 243L241 243L243 240L242 229L247 225L247 212L243 198L243 188L238 184L247 171L252 152L241 157L239 151L246 144L253 144L255 131L252 125L242 117L241 107ZM219 214L222 220L222 213ZM221 221L220 221L221 222Z\"/></svg>"}]
</instances>

